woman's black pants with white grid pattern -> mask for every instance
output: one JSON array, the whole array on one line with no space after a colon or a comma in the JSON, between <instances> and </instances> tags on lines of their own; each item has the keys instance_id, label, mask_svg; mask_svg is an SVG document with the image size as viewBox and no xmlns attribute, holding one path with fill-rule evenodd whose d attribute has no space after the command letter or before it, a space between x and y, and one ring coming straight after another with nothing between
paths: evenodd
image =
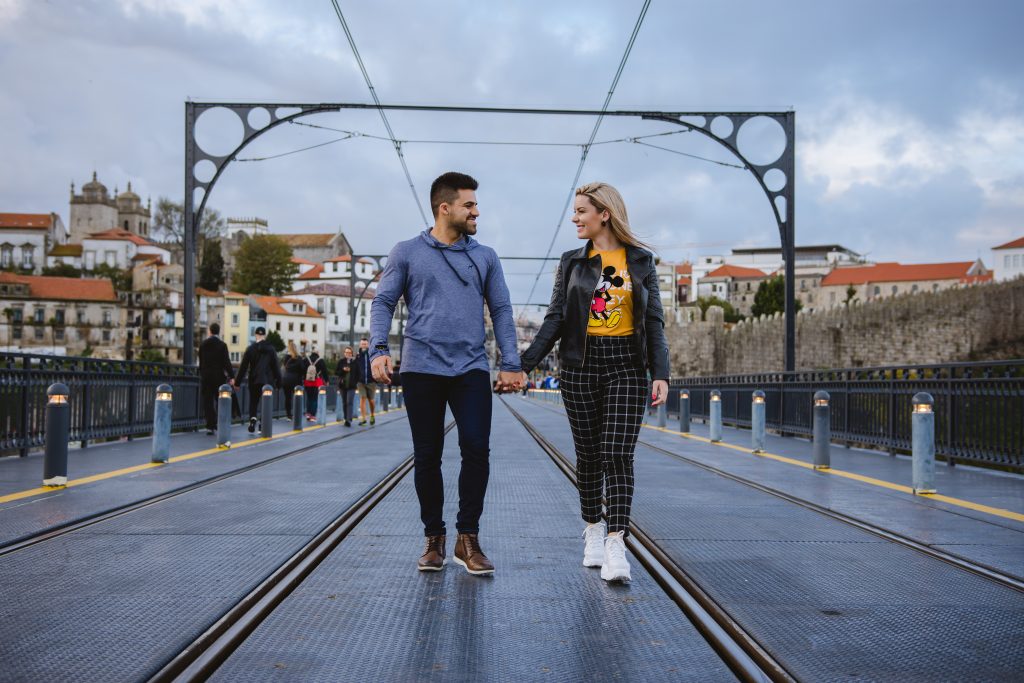
<instances>
[{"instance_id":1,"label":"woman's black pants with white grid pattern","mask_svg":"<svg viewBox=\"0 0 1024 683\"><path fill-rule=\"evenodd\" d=\"M647 404L646 373L633 359L631 337L587 338L582 368L562 368L559 387L577 451L580 507L587 523L628 531L633 505L633 452Z\"/></svg>"}]
</instances>

